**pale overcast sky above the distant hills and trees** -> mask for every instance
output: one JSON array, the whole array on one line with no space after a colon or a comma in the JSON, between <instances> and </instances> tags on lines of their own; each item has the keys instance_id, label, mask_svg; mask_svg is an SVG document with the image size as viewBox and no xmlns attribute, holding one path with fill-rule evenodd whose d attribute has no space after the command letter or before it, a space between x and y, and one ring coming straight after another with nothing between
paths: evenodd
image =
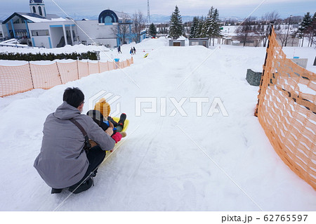
<instances>
[{"instance_id":1,"label":"pale overcast sky above the distant hills and trees","mask_svg":"<svg viewBox=\"0 0 316 224\"><path fill-rule=\"evenodd\" d=\"M68 15L98 16L101 11L110 8L113 11L134 13L142 11L147 15L147 0L45 0L46 12L65 17L62 8ZM261 4L263 2L263 4ZM58 4L58 6L56 6ZM261 6L259 6L261 4ZM181 15L206 15L209 8L217 8L220 17L237 16L245 18L252 14L258 18L265 13L277 11L282 18L289 15L314 14L316 0L150 0L150 14L171 15L178 5ZM1 0L0 20L6 19L14 12L29 12L29 0Z\"/></svg>"}]
</instances>

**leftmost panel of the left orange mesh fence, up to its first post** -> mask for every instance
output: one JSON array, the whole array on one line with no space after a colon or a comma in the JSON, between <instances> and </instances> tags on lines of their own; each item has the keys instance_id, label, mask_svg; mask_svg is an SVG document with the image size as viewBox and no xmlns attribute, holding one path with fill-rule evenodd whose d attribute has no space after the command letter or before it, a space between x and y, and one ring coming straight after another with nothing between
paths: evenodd
<instances>
[{"instance_id":1,"label":"leftmost panel of the left orange mesh fence, up to its first post","mask_svg":"<svg viewBox=\"0 0 316 224\"><path fill-rule=\"evenodd\" d=\"M0 96L33 89L29 65L0 66Z\"/></svg>"}]
</instances>

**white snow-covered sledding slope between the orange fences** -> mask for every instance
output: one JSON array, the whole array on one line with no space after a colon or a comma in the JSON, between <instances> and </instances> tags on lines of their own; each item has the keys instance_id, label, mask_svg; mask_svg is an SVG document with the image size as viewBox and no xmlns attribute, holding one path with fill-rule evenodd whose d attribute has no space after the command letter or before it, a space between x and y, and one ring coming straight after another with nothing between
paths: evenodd
<instances>
[{"instance_id":1,"label":"white snow-covered sledding slope between the orange fences","mask_svg":"<svg viewBox=\"0 0 316 224\"><path fill-rule=\"evenodd\" d=\"M0 211L316 211L315 190L279 159L254 117L258 87L246 82L246 69L261 72L265 48L168 45L164 38L124 45L123 54L101 54L124 60L135 46L124 70L0 98ZM316 72L315 49L284 49L289 58L294 50ZM33 167L46 116L68 86L84 91L84 112L102 90L121 96L112 111L120 105L130 120L95 186L70 197L67 190L51 195ZM200 111L198 97L209 100ZM138 111L140 98L157 99L157 112ZM224 108L208 116L214 99Z\"/></svg>"}]
</instances>

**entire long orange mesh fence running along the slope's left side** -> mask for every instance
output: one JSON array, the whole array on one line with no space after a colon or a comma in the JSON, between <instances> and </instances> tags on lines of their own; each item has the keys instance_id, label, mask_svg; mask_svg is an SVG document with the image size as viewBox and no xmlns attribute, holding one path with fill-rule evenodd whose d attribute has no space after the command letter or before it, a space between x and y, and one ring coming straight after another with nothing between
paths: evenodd
<instances>
[{"instance_id":1,"label":"entire long orange mesh fence running along the slope's left side","mask_svg":"<svg viewBox=\"0 0 316 224\"><path fill-rule=\"evenodd\" d=\"M130 64L133 63L133 58ZM23 93L34 88L52 88L89 74L124 68L128 62L55 62L51 65L0 66L0 97Z\"/></svg>"}]
</instances>

